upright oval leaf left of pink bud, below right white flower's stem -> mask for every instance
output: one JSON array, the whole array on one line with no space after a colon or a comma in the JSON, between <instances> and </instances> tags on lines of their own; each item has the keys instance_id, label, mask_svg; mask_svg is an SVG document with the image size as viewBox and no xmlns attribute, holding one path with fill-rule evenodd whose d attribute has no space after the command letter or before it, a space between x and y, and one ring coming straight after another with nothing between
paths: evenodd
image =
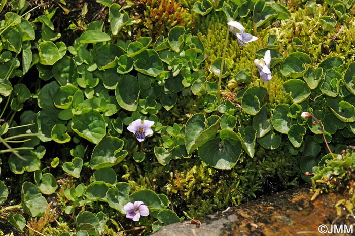
<instances>
[{"instance_id":1,"label":"upright oval leaf left of pink bud, below right white flower's stem","mask_svg":"<svg viewBox=\"0 0 355 236\"><path fill-rule=\"evenodd\" d=\"M272 126L280 133L288 133L290 130L289 108L288 104L278 104L271 115Z\"/></svg>"}]
</instances>

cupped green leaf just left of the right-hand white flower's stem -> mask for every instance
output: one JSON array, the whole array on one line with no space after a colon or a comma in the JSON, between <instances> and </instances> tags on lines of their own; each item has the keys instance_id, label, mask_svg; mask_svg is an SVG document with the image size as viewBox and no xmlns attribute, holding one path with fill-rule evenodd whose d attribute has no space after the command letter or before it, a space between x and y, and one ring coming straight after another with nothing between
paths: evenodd
<instances>
[{"instance_id":1,"label":"cupped green leaf just left of the right-hand white flower's stem","mask_svg":"<svg viewBox=\"0 0 355 236\"><path fill-rule=\"evenodd\" d=\"M261 86L248 88L241 99L241 108L247 114L255 116L260 111L260 102L267 94L267 90Z\"/></svg>"}]
</instances>

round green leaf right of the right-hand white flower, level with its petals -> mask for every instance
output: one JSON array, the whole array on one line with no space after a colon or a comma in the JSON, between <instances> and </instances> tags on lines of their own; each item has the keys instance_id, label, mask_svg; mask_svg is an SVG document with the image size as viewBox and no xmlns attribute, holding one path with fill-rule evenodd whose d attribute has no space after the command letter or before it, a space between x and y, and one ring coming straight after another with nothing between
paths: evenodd
<instances>
[{"instance_id":1,"label":"round green leaf right of the right-hand white flower, level with its petals","mask_svg":"<svg viewBox=\"0 0 355 236\"><path fill-rule=\"evenodd\" d=\"M293 52L289 54L281 66L281 73L287 77L301 77L306 70L306 64L310 64L312 60L303 52Z\"/></svg>"}]
</instances>

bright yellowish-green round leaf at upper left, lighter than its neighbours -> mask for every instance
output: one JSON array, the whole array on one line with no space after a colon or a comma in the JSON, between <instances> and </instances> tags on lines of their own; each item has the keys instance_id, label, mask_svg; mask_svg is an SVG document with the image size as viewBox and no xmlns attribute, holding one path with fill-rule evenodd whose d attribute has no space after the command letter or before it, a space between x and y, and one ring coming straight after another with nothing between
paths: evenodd
<instances>
[{"instance_id":1,"label":"bright yellowish-green round leaf at upper left, lighter than its neighbours","mask_svg":"<svg viewBox=\"0 0 355 236\"><path fill-rule=\"evenodd\" d=\"M57 46L51 41L44 41L38 45L39 61L43 65L53 65L62 58Z\"/></svg>"}]
</instances>

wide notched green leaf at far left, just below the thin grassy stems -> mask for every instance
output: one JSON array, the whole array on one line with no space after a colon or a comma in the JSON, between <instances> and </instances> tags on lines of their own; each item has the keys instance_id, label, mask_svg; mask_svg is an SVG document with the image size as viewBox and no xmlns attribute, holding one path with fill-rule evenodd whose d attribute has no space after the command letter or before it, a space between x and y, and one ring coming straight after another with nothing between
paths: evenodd
<instances>
[{"instance_id":1,"label":"wide notched green leaf at far left, just below the thin grassy stems","mask_svg":"<svg viewBox=\"0 0 355 236\"><path fill-rule=\"evenodd\" d=\"M40 168L40 158L31 150L20 150L18 152L24 160L20 159L15 154L9 157L10 170L15 174L22 174L25 171L32 172Z\"/></svg>"}]
</instances>

